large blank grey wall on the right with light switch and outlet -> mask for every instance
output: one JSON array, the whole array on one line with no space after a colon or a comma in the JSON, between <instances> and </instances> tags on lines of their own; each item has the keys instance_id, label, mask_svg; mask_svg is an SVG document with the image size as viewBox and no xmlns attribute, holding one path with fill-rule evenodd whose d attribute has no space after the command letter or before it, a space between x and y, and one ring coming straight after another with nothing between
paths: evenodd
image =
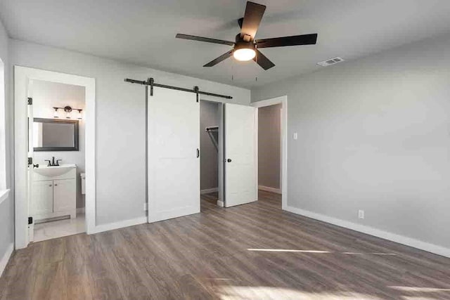
<instances>
[{"instance_id":1,"label":"large blank grey wall on the right with light switch and outlet","mask_svg":"<svg viewBox=\"0 0 450 300\"><path fill-rule=\"evenodd\" d=\"M447 34L252 90L288 96L288 206L450 256L449 49Z\"/></svg>"}]
</instances>

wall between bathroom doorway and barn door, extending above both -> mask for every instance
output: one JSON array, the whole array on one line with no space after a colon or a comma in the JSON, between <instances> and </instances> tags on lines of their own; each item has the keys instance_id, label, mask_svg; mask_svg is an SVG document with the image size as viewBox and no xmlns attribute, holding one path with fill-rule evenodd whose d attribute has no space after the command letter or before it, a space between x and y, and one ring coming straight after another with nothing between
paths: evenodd
<instances>
[{"instance_id":1,"label":"wall between bathroom doorway and barn door, extending above both","mask_svg":"<svg viewBox=\"0 0 450 300\"><path fill-rule=\"evenodd\" d=\"M11 41L11 66L78 74L96 79L96 222L114 223L145 216L145 89L124 78L145 80L233 96L250 103L250 91L226 84L127 65L25 41ZM163 59L163 58L162 58ZM210 97L202 96L208 100ZM219 100L214 98L214 100Z\"/></svg>"}]
</instances>

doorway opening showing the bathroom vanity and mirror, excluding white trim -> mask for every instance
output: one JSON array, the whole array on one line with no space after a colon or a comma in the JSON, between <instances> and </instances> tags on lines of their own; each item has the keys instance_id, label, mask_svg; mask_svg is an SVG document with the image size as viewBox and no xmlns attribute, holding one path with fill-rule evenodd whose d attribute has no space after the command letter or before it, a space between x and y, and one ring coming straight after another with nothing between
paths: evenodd
<instances>
[{"instance_id":1,"label":"doorway opening showing the bathroom vanity and mirror, excluding white trim","mask_svg":"<svg viewBox=\"0 0 450 300\"><path fill-rule=\"evenodd\" d=\"M30 242L85 233L86 89L34 79L28 95Z\"/></svg>"}]
</instances>

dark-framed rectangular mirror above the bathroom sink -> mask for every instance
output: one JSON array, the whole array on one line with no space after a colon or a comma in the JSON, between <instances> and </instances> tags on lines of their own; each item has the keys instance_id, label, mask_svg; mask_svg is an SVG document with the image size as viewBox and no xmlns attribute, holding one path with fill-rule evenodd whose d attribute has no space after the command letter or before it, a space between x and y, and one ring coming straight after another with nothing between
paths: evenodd
<instances>
[{"instance_id":1,"label":"dark-framed rectangular mirror above the bathroom sink","mask_svg":"<svg viewBox=\"0 0 450 300\"><path fill-rule=\"evenodd\" d=\"M78 120L34 118L33 148L34 151L78 151Z\"/></svg>"}]
</instances>

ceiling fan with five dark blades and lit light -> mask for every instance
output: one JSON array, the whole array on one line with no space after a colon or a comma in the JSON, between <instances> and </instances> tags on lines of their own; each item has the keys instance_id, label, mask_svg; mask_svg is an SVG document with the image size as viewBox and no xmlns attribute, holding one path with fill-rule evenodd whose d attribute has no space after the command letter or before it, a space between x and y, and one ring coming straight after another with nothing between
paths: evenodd
<instances>
[{"instance_id":1,"label":"ceiling fan with five dark blades and lit light","mask_svg":"<svg viewBox=\"0 0 450 300\"><path fill-rule=\"evenodd\" d=\"M218 58L211 60L210 63L207 63L203 67L212 67L213 65L217 65L221 61L226 60L226 58L234 56L236 60L241 61L255 60L255 62L264 70L269 70L271 67L274 67L275 64L272 63L269 58L266 58L266 56L258 50L259 48L316 44L316 33L293 35L291 37L275 37L272 39L255 39L259 23L261 22L265 10L266 6L262 4L256 4L250 1L247 2L244 18L238 20L240 33L236 35L236 42L210 39L207 37L195 37L188 34L176 34L176 38L233 46L233 49Z\"/></svg>"}]
</instances>

